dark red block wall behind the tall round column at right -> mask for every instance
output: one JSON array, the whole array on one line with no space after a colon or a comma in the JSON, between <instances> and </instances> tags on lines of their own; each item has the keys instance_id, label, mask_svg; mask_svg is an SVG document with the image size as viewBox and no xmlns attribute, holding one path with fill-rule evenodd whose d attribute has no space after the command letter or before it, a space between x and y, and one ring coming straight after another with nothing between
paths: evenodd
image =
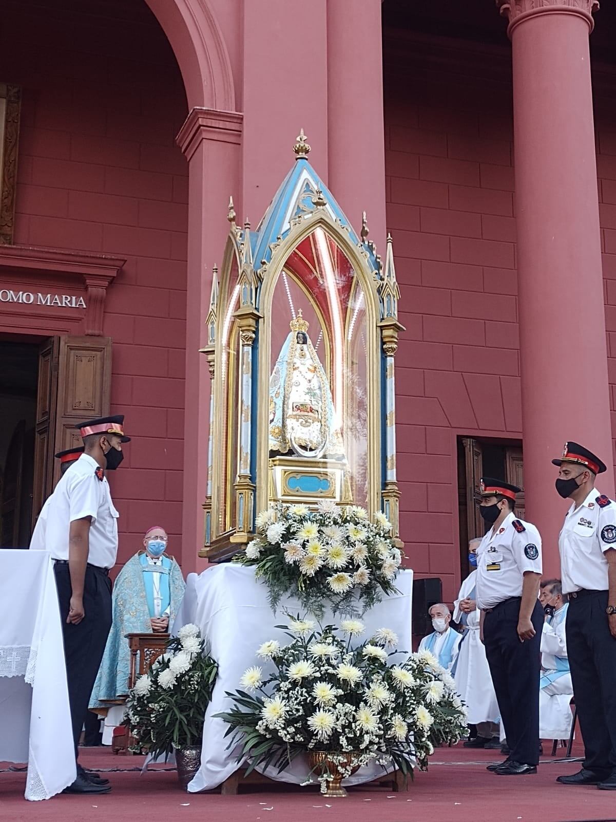
<instances>
[{"instance_id":1,"label":"dark red block wall behind the tall round column at right","mask_svg":"<svg viewBox=\"0 0 616 822\"><path fill-rule=\"evenodd\" d=\"M460 581L456 436L522 432L508 63L478 76L472 48L460 61L447 71L386 57L385 84L388 229L407 328L396 372L402 538L409 565L441 577L448 602ZM597 71L594 81L616 432L616 112L609 81Z\"/></svg>"}]
</instances>

